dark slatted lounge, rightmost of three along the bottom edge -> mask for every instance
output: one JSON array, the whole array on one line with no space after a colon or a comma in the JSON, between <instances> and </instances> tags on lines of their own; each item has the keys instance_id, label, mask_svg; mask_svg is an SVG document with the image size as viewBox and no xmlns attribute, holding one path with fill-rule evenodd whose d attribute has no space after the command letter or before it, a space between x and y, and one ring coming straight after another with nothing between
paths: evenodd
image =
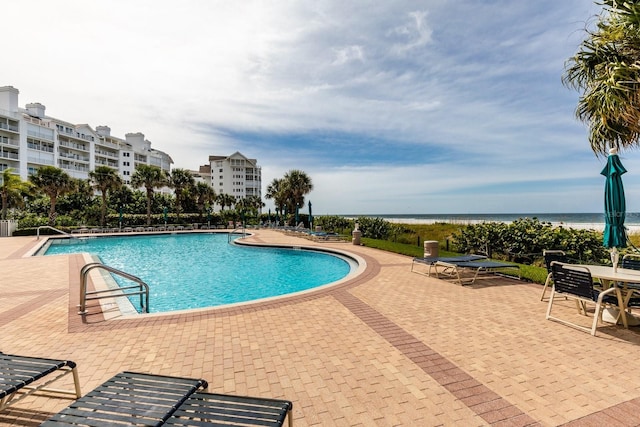
<instances>
[{"instance_id":1,"label":"dark slatted lounge, rightmost of three along the bottom edge","mask_svg":"<svg viewBox=\"0 0 640 427\"><path fill-rule=\"evenodd\" d=\"M287 400L198 392L173 413L168 426L293 426L293 404Z\"/></svg>"}]
</instances>

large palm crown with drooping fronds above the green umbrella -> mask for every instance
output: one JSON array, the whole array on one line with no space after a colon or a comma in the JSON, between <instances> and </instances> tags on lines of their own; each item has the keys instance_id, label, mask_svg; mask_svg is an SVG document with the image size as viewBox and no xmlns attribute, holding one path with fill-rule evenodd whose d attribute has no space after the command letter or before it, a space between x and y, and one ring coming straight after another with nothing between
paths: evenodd
<instances>
[{"instance_id":1,"label":"large palm crown with drooping fronds above the green umbrella","mask_svg":"<svg viewBox=\"0 0 640 427\"><path fill-rule=\"evenodd\" d=\"M596 154L640 145L640 2L602 0L604 13L562 82L582 92L576 116L589 126Z\"/></svg>"}]
</instances>

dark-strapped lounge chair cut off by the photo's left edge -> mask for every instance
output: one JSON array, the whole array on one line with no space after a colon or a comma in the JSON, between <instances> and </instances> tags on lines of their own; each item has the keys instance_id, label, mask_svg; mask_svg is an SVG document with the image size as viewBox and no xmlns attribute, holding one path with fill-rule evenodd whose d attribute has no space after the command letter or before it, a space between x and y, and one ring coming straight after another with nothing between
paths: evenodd
<instances>
[{"instance_id":1,"label":"dark-strapped lounge chair cut off by the photo's left edge","mask_svg":"<svg viewBox=\"0 0 640 427\"><path fill-rule=\"evenodd\" d=\"M49 387L52 382L68 374L73 375L75 390ZM15 356L0 352L0 411L36 392L79 398L81 393L76 364L70 360Z\"/></svg>"}]
</instances>

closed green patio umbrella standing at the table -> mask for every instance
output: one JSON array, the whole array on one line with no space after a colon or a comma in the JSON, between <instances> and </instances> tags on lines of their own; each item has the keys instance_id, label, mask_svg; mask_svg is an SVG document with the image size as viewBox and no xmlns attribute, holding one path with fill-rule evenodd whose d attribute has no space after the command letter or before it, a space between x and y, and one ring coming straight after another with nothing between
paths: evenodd
<instances>
[{"instance_id":1,"label":"closed green patio umbrella standing at the table","mask_svg":"<svg viewBox=\"0 0 640 427\"><path fill-rule=\"evenodd\" d=\"M627 247L627 230L624 227L626 202L622 175L627 170L622 166L618 150L609 150L607 165L600 172L606 177L604 184L604 236L602 243L611 249L613 268L618 266L618 248Z\"/></svg>"}]
</instances>

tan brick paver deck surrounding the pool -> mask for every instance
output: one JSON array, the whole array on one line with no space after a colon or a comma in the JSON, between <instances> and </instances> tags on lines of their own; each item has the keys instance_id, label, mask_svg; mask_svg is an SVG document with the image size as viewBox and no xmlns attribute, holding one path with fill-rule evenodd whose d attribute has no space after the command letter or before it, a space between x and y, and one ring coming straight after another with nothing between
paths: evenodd
<instances>
[{"instance_id":1,"label":"tan brick paver deck surrounding the pool","mask_svg":"<svg viewBox=\"0 0 640 427\"><path fill-rule=\"evenodd\" d=\"M73 360L83 392L123 370L202 377L214 392L292 400L296 426L640 425L638 328L592 337L549 322L524 281L462 287L363 246L272 230L247 240L337 248L367 266L295 297L110 319L77 314L81 255L25 257L34 237L2 238L0 351ZM30 396L0 425L38 425L68 404Z\"/></svg>"}]
</instances>

